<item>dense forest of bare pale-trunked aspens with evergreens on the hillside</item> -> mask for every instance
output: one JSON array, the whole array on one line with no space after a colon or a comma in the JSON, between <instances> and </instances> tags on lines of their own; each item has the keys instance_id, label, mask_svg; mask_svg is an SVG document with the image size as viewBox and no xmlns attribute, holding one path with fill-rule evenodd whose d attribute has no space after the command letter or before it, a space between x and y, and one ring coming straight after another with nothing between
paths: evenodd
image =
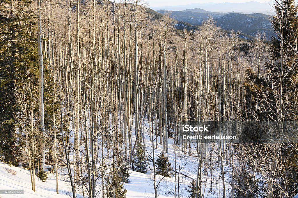
<instances>
[{"instance_id":1,"label":"dense forest of bare pale-trunked aspens with evergreens on the hillside","mask_svg":"<svg viewBox=\"0 0 298 198\"><path fill-rule=\"evenodd\" d=\"M173 196L181 197L180 165L166 157L172 147L177 161L197 158L190 198L215 185L223 198L298 193L297 144L191 147L178 133L184 120L297 120L294 0L276 1L271 41L262 32L243 40L212 18L178 30L139 0L0 2L2 161L42 180L51 165L57 193L65 167L72 197L125 197L128 170L152 174L155 197L156 175L174 177Z\"/></svg>"}]
</instances>

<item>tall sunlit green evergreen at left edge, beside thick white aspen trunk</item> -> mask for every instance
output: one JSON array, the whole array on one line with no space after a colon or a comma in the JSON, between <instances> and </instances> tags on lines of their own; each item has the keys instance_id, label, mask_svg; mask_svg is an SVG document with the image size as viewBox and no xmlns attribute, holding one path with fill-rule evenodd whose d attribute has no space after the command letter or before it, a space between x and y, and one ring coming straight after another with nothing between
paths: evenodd
<instances>
[{"instance_id":1,"label":"tall sunlit green evergreen at left edge, beside thick white aspen trunk","mask_svg":"<svg viewBox=\"0 0 298 198\"><path fill-rule=\"evenodd\" d=\"M5 162L16 164L14 149L16 120L15 85L18 76L26 79L37 75L38 53L36 38L31 34L35 24L29 9L32 1L0 1L0 152ZM32 28L33 27L33 28ZM33 29L33 30L32 30Z\"/></svg>"}]
</instances>

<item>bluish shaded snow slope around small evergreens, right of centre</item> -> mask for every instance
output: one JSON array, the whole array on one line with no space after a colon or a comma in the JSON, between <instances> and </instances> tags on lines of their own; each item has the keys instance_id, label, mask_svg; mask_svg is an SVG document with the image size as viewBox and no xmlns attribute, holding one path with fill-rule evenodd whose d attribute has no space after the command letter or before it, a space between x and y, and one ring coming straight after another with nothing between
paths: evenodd
<instances>
[{"instance_id":1,"label":"bluish shaded snow slope around small evergreens, right of centre","mask_svg":"<svg viewBox=\"0 0 298 198\"><path fill-rule=\"evenodd\" d=\"M132 122L134 123L134 121ZM149 140L149 124L146 119L143 119L142 122L142 131L144 132L145 136L145 146L146 146L146 155L152 156L152 143ZM134 125L132 126L132 139L133 142L135 141L136 136L134 135ZM155 136L154 136L155 138ZM159 142L159 136L158 142ZM155 140L154 140L155 142ZM180 172L179 175L179 195L180 197L187 197L188 192L185 190L185 187L190 185L191 180L196 180L197 177L197 168L198 168L198 158L196 157L196 150L195 146L191 145L191 155L189 155L188 150L186 151L186 154L179 151L180 149L177 149L176 154L174 153L174 144L173 139L168 139L168 153L164 153L168 158L169 162L172 164L173 169L175 170L175 158L176 158L176 171ZM215 149L216 150L216 149ZM157 156L160 153L163 153L163 146L161 144L158 144L158 149L155 149L155 156ZM221 177L218 173L221 172L220 167L218 167L217 164L217 154L215 151L212 153L213 156L213 164L211 165L213 168L213 184L212 184L212 192L210 192L210 172L209 169L204 169L204 166L202 168L202 188L204 194L204 197L206 198L213 198L213 197L222 197L222 185L221 185ZM208 161L209 163L210 161ZM149 166L151 169L153 169L153 164L149 163ZM229 170L230 167L228 165L224 166L224 170L226 172L225 174L225 180L226 180L226 193L229 195L229 191L231 191L229 181L230 181L230 175ZM131 181L128 184L124 184L124 187L128 190L126 193L127 198L136 198L136 197L142 197L142 198L151 198L154 197L154 188L153 188L153 174L148 170L147 175L142 174L139 172L130 171L131 176L129 177L129 180ZM174 198L174 190L175 190L175 175L172 175L171 178L163 178L160 175L157 175L157 183L162 179L162 182L160 183L158 187L158 197L164 198ZM176 175L176 179L178 178L178 174ZM205 187L204 187L205 186ZM176 180L176 197L178 194L178 183Z\"/></svg>"}]
</instances>

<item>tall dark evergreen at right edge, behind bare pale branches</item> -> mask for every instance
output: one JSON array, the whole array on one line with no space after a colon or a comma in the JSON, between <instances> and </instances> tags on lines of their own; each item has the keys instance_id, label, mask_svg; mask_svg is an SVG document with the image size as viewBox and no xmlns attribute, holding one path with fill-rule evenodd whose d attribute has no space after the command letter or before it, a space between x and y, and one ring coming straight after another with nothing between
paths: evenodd
<instances>
[{"instance_id":1,"label":"tall dark evergreen at right edge, behind bare pale branches","mask_svg":"<svg viewBox=\"0 0 298 198\"><path fill-rule=\"evenodd\" d=\"M248 98L252 98L255 104L262 106L262 108L252 107L250 111L256 111L253 114L258 115L258 120L298 120L298 6L295 0L276 0L274 8L275 16L272 25L277 34L271 40L274 61L266 64L267 76L257 76L253 70L247 70L251 83L245 84L249 93ZM265 100L263 95L260 97L262 93L268 94ZM297 188L292 190L292 186L297 187L296 178L298 178L296 166L298 155L292 146L284 145L287 149L281 151L281 161L289 160L291 163L285 163L283 175L276 175L280 177L276 178L280 181L279 185L288 189L287 193L290 197L298 192ZM297 148L298 145L295 144L294 147ZM287 180L287 183L284 183L284 180ZM277 188L274 191L274 196L279 197L281 192L277 192Z\"/></svg>"}]
</instances>

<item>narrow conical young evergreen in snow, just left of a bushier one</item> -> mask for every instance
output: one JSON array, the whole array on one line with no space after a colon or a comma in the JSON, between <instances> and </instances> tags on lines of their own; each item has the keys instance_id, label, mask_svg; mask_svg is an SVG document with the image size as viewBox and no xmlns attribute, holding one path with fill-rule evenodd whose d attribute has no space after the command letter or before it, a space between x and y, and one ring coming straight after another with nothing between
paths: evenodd
<instances>
[{"instance_id":1,"label":"narrow conical young evergreen in snow, just left of a bushier one","mask_svg":"<svg viewBox=\"0 0 298 198\"><path fill-rule=\"evenodd\" d=\"M145 156L145 147L140 141L136 144L136 151L134 153L134 170L136 172L147 172L147 158Z\"/></svg>"}]
</instances>

